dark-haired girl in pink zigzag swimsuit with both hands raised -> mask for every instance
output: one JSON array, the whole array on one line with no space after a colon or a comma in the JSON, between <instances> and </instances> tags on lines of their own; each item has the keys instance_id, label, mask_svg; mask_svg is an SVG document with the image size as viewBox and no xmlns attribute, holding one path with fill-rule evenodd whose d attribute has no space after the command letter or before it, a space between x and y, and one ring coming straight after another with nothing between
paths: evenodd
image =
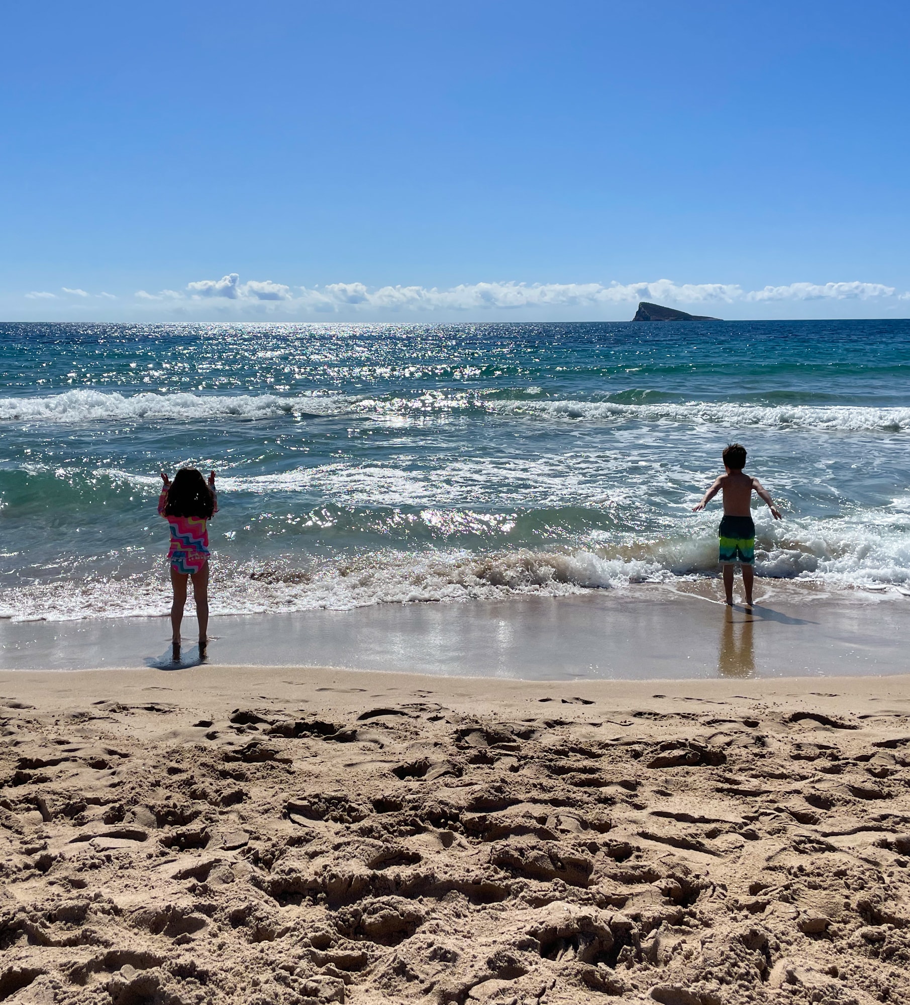
<instances>
[{"instance_id":1,"label":"dark-haired girl in pink zigzag swimsuit with both hands raised","mask_svg":"<svg viewBox=\"0 0 910 1005\"><path fill-rule=\"evenodd\" d=\"M207 521L218 511L215 472L206 484L195 467L182 467L174 480L161 472L165 487L158 497L158 512L171 525L171 605L173 658L180 659L180 623L187 602L187 579L193 580L196 616L199 618L199 656L205 658L209 626L209 532Z\"/></svg>"}]
</instances>

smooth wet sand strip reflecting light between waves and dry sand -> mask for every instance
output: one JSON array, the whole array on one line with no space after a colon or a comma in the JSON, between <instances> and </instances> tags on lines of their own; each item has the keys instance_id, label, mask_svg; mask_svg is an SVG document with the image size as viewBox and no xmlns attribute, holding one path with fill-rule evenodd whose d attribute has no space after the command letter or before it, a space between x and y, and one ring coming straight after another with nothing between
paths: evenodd
<instances>
[{"instance_id":1,"label":"smooth wet sand strip reflecting light between waves and dry sand","mask_svg":"<svg viewBox=\"0 0 910 1005\"><path fill-rule=\"evenodd\" d=\"M903 672L903 601L845 603L825 590L756 584L749 612L727 608L719 581L684 587L504 601L376 605L351 611L230 615L210 622L212 663L330 665L428 676L676 679L881 675ZM174 670L198 664L195 618L183 662L167 618L0 620L0 669Z\"/></svg>"}]
</instances>

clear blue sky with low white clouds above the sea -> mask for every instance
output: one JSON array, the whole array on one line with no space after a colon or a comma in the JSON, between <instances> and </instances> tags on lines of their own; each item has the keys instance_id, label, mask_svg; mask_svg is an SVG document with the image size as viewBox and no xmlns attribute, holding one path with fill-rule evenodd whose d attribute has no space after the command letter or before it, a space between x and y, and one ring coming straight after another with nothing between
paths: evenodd
<instances>
[{"instance_id":1,"label":"clear blue sky with low white clouds above the sea","mask_svg":"<svg viewBox=\"0 0 910 1005\"><path fill-rule=\"evenodd\" d=\"M908 317L908 29L875 0L7 5L0 319Z\"/></svg>"}]
</instances>

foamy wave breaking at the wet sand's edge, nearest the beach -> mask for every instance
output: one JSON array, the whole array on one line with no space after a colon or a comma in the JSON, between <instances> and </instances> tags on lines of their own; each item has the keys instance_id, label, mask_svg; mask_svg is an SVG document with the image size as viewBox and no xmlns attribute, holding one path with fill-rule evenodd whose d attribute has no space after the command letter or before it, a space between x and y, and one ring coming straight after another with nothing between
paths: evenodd
<instances>
[{"instance_id":1,"label":"foamy wave breaking at the wet sand's edge, nearest the beach","mask_svg":"<svg viewBox=\"0 0 910 1005\"><path fill-rule=\"evenodd\" d=\"M759 576L827 584L835 589L910 594L910 527L895 508L891 522L759 520ZM460 550L406 553L388 550L353 559L292 559L235 563L215 555L213 613L254 614L317 609L351 610L375 604L559 597L641 582L670 583L716 572L716 538L706 527L685 537L589 548L471 554ZM162 563L125 577L32 583L0 596L0 616L17 619L164 615L170 589Z\"/></svg>"}]
</instances>

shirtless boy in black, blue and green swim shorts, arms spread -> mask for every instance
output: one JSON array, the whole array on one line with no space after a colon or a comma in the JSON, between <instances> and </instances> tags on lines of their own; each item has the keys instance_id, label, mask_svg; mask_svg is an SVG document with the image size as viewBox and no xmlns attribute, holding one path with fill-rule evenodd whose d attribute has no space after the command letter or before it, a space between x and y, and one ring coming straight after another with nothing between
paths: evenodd
<instances>
[{"instance_id":1,"label":"shirtless boy in black, blue and green swim shorts, arms spread","mask_svg":"<svg viewBox=\"0 0 910 1005\"><path fill-rule=\"evenodd\" d=\"M723 451L721 474L704 493L698 506L692 507L698 513L723 489L723 520L717 536L720 539L720 564L723 566L723 590L728 606L733 606L733 573L736 564L742 570L742 586L745 590L745 606L752 606L752 566L755 564L755 525L752 523L752 489L759 498L767 502L774 520L780 520L780 511L771 501L768 492L757 478L742 473L745 467L745 447L731 443Z\"/></svg>"}]
</instances>

